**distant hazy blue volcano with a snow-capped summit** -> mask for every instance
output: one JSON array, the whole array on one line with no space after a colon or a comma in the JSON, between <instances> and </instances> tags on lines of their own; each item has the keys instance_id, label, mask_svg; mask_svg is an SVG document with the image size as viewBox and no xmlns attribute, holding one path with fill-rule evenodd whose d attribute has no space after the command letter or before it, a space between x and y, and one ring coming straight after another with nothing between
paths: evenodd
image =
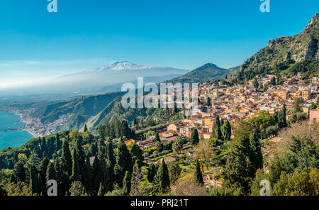
<instances>
[{"instance_id":1,"label":"distant hazy blue volcano with a snow-capped summit","mask_svg":"<svg viewBox=\"0 0 319 210\"><path fill-rule=\"evenodd\" d=\"M118 84L132 82L138 77L144 77L145 82L164 82L161 79L172 79L186 74L189 70L175 69L172 67L157 67L150 65L134 64L132 62L114 62L111 65L85 70L75 74L67 74L62 77L50 79L43 84L31 85L30 88L18 90L28 93L61 93L77 92L94 94L104 87L111 91L118 90ZM112 89L110 86L113 86Z\"/></svg>"}]
</instances>

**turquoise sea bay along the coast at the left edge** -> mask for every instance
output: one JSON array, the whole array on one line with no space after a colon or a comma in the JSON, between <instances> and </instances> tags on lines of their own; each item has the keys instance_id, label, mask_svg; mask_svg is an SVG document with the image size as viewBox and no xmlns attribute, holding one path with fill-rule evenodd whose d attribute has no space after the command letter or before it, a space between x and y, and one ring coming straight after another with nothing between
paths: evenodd
<instances>
[{"instance_id":1,"label":"turquoise sea bay along the coast at the left edge","mask_svg":"<svg viewBox=\"0 0 319 210\"><path fill-rule=\"evenodd\" d=\"M26 130L11 130L23 128L26 124L21 117L6 111L0 111L0 150L4 148L17 148L34 138Z\"/></svg>"}]
</instances>

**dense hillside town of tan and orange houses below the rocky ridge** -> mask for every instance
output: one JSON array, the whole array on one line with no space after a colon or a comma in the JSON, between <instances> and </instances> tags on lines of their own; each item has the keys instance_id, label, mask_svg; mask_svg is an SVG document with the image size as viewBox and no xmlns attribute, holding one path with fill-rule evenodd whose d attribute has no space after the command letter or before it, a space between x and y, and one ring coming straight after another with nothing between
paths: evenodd
<instances>
[{"instance_id":1,"label":"dense hillside town of tan and orange houses below the rocky ridge","mask_svg":"<svg viewBox=\"0 0 319 210\"><path fill-rule=\"evenodd\" d=\"M200 104L193 116L179 123L172 123L159 131L162 143L175 140L177 136L190 138L194 128L197 128L201 139L213 138L213 125L217 115L224 121L233 124L237 119L253 118L258 115L259 111L274 114L275 111L282 109L283 104L286 104L286 109L293 109L293 102L296 98L303 101L303 111L308 113L308 108L315 104L319 95L319 77L313 77L309 85L301 80L301 74L289 79L283 77L281 78L284 79L283 84L276 86L271 85L273 77L275 76L266 75L258 78L259 90L267 87L264 92L254 87L254 79L245 85L233 87L216 86L210 83L200 84L198 96L201 104L204 104L209 98L211 106ZM310 111L310 121L313 119L319 122L319 109ZM154 145L154 139L155 136L150 136L138 144L141 148L148 148Z\"/></svg>"}]
</instances>

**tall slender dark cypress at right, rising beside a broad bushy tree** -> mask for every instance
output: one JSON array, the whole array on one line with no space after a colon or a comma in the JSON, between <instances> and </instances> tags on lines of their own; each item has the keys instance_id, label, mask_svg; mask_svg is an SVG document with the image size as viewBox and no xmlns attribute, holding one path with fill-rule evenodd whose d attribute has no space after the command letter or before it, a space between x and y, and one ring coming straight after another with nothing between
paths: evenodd
<instances>
[{"instance_id":1,"label":"tall slender dark cypress at right, rising beside a broad bushy tree","mask_svg":"<svg viewBox=\"0 0 319 210\"><path fill-rule=\"evenodd\" d=\"M262 169L262 148L256 131L250 133L250 162L254 169L252 170L252 177L258 169Z\"/></svg>"}]
</instances>

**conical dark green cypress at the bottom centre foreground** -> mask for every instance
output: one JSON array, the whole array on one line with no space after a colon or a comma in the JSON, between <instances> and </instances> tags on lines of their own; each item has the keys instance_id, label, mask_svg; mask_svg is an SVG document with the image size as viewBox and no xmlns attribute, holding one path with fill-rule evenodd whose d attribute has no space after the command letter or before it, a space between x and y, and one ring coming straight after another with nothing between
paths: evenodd
<instances>
[{"instance_id":1,"label":"conical dark green cypress at the bottom centre foreground","mask_svg":"<svg viewBox=\"0 0 319 210\"><path fill-rule=\"evenodd\" d=\"M169 171L167 165L162 160L162 165L157 170L156 176L153 182L153 194L164 194L167 193L169 190Z\"/></svg>"}]
</instances>

